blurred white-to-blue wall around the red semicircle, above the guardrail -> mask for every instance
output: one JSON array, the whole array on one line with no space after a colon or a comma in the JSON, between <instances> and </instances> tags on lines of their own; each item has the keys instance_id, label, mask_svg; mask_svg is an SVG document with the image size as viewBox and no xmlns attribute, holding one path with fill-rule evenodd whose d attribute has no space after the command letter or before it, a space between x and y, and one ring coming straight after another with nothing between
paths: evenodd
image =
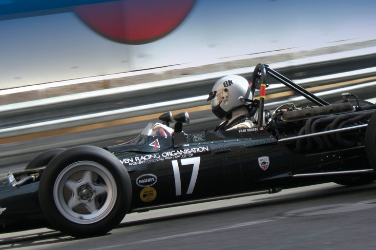
<instances>
[{"instance_id":1,"label":"blurred white-to-blue wall around the red semicircle, above the guardrail","mask_svg":"<svg viewBox=\"0 0 376 250\"><path fill-rule=\"evenodd\" d=\"M105 38L74 12L0 21L0 88L376 36L373 0L196 0L167 36Z\"/></svg>"}]
</instances>

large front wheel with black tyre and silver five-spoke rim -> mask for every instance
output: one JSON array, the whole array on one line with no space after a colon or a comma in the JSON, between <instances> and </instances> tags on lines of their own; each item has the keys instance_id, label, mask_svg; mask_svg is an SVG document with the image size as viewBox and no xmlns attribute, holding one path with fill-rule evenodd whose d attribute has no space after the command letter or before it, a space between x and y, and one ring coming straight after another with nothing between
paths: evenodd
<instances>
[{"instance_id":1,"label":"large front wheel with black tyre and silver five-spoke rim","mask_svg":"<svg viewBox=\"0 0 376 250\"><path fill-rule=\"evenodd\" d=\"M94 146L53 158L42 174L39 200L51 225L76 237L102 235L129 210L132 186L119 159Z\"/></svg>"}]
</instances>

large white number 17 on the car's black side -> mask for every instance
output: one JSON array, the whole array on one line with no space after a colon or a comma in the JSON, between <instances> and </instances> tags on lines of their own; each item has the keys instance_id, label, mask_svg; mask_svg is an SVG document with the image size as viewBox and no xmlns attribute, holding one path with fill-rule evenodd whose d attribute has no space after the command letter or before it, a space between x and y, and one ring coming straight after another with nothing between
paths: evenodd
<instances>
[{"instance_id":1,"label":"large white number 17 on the car's black side","mask_svg":"<svg viewBox=\"0 0 376 250\"><path fill-rule=\"evenodd\" d=\"M171 162L172 162L172 169L174 170L174 178L175 178L175 195L181 195L182 185L180 183L180 171L179 171L178 160L173 160ZM180 162L182 166L193 164L193 171L192 171L192 175L190 176L189 186L187 190L187 194L191 194L193 192L194 185L196 185L198 169L200 167L200 157L181 159Z\"/></svg>"}]
</instances>

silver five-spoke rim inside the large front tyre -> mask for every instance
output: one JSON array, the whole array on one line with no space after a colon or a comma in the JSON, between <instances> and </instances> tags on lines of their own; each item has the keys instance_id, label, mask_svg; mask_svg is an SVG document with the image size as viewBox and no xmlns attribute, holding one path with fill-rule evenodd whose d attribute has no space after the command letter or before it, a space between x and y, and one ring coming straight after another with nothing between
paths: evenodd
<instances>
[{"instance_id":1,"label":"silver five-spoke rim inside the large front tyre","mask_svg":"<svg viewBox=\"0 0 376 250\"><path fill-rule=\"evenodd\" d=\"M78 224L104 219L115 206L116 181L101 164L75 162L59 174L54 185L54 201L59 212Z\"/></svg>"}]
</instances>

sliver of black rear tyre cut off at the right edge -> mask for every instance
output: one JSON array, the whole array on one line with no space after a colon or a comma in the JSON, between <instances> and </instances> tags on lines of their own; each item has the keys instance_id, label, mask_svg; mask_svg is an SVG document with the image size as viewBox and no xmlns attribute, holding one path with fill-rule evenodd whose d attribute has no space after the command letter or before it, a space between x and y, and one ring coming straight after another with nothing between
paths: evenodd
<instances>
[{"instance_id":1,"label":"sliver of black rear tyre cut off at the right edge","mask_svg":"<svg viewBox=\"0 0 376 250\"><path fill-rule=\"evenodd\" d=\"M376 111L368 121L364 143L368 162L376 171Z\"/></svg>"}]
</instances>

